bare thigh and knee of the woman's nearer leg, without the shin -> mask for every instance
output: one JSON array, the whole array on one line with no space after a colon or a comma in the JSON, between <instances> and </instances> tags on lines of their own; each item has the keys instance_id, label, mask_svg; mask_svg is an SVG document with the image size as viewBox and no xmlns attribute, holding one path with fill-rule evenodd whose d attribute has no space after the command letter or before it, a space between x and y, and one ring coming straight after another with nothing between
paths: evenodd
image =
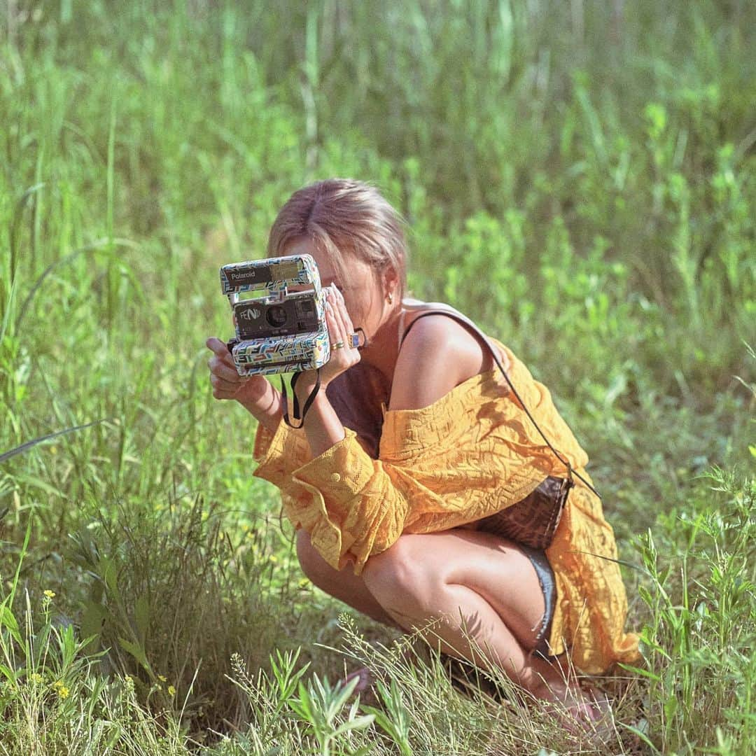
<instances>
[{"instance_id":1,"label":"bare thigh and knee of the woman's nearer leg, without the shin","mask_svg":"<svg viewBox=\"0 0 756 756\"><path fill-rule=\"evenodd\" d=\"M398 601L409 595L429 613L445 585L463 585L490 604L523 648L538 643L546 600L533 563L514 541L466 528L405 533L367 560L363 576L387 609L392 594Z\"/></svg>"}]
</instances>

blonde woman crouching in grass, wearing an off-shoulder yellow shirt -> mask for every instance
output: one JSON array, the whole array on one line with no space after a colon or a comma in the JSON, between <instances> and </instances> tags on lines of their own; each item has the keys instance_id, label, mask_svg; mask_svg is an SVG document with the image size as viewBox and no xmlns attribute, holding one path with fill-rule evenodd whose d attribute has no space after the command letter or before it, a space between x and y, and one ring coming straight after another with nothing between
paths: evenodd
<instances>
[{"instance_id":1,"label":"blonde woman crouching in grass, wearing an off-shoulder yellow shirt","mask_svg":"<svg viewBox=\"0 0 756 756\"><path fill-rule=\"evenodd\" d=\"M565 681L566 652L578 672L602 674L637 660L637 636L624 632L615 538L587 455L550 393L457 311L405 296L401 221L370 185L332 179L293 194L268 256L298 254L329 287L332 342L319 387L315 371L296 384L300 404L315 392L303 427L283 422L271 383L241 379L223 342L207 345L215 397L256 417L255 474L280 488L305 575L406 631L436 620L442 652L591 717ZM545 547L496 526L518 511L527 530L534 493L567 479Z\"/></svg>"}]
</instances>

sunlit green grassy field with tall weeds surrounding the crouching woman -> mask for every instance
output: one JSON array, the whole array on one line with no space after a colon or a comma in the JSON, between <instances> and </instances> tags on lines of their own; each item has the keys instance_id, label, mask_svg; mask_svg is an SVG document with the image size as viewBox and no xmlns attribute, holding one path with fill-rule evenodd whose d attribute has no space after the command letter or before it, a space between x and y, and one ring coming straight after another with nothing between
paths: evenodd
<instances>
[{"instance_id":1,"label":"sunlit green grassy field with tall weeds surrounding the crouching woman","mask_svg":"<svg viewBox=\"0 0 756 756\"><path fill-rule=\"evenodd\" d=\"M756 752L754 29L745 0L6 0L0 754ZM212 399L218 265L332 175L591 457L643 639L602 747L342 615Z\"/></svg>"}]
</instances>

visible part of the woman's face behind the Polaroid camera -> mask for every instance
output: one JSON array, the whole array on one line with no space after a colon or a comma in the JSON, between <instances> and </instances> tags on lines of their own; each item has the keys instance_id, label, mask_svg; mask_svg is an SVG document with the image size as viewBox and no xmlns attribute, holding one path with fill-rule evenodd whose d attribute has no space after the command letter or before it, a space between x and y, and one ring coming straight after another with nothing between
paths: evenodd
<instances>
[{"instance_id":1,"label":"visible part of the woman's face behind the Polaroid camera","mask_svg":"<svg viewBox=\"0 0 756 756\"><path fill-rule=\"evenodd\" d=\"M333 284L341 291L355 328L362 328L367 336L367 342L372 341L373 336L383 324L386 310L386 293L380 285L380 280L373 273L373 268L346 253L344 255L345 272L342 276L333 268L327 256L318 253L309 239L290 244L286 249L286 254L311 255L314 258L321 274L321 284L324 287Z\"/></svg>"}]
</instances>

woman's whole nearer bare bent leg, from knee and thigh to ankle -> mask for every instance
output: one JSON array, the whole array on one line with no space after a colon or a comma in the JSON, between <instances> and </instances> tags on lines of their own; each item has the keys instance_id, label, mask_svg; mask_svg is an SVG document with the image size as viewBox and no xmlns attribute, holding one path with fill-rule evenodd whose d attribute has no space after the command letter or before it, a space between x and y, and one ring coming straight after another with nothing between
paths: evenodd
<instances>
[{"instance_id":1,"label":"woman's whole nearer bare bent leg, from knee and thigh to ankle","mask_svg":"<svg viewBox=\"0 0 756 756\"><path fill-rule=\"evenodd\" d=\"M558 665L531 655L545 600L532 562L513 541L461 528L404 534L367 561L361 578L407 631L439 619L426 640L442 652L495 665L539 698L568 692Z\"/></svg>"}]
</instances>

